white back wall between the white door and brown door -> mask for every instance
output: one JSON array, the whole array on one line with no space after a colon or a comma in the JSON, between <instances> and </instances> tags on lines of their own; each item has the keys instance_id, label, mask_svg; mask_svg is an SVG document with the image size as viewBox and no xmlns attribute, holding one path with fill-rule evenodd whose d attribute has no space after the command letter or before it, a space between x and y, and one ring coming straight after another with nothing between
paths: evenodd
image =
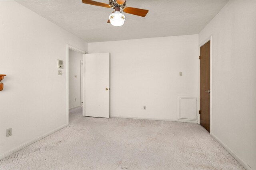
<instances>
[{"instance_id":1,"label":"white back wall between the white door and brown door","mask_svg":"<svg viewBox=\"0 0 256 170\"><path fill-rule=\"evenodd\" d=\"M198 96L198 35L88 43L88 52L110 53L110 116L177 120L177 96Z\"/></svg>"}]
</instances>

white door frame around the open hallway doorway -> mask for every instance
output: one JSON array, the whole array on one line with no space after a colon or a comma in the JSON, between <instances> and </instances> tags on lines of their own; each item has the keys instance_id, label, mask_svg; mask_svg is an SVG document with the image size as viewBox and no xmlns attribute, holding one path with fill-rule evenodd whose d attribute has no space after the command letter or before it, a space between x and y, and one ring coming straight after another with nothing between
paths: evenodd
<instances>
[{"instance_id":1,"label":"white door frame around the open hallway doorway","mask_svg":"<svg viewBox=\"0 0 256 170\"><path fill-rule=\"evenodd\" d=\"M67 90L66 90L66 99L67 99L66 110L67 110L67 113L66 113L66 116L67 116L67 124L68 125L69 125L69 119L68 119L68 116L69 116L69 95L68 95L68 92L69 92L69 83L68 83L68 81L69 81L69 78L68 78L68 76L69 76L68 75L69 67L68 67L68 63L69 63L69 50L70 49L82 54L83 63L84 63L84 55L87 53L86 51L83 51L83 50L81 50L79 48L76 48L76 47L74 47L72 45L67 44L67 51L66 51L66 53L67 53L67 56L66 56L66 68L67 68L66 69L67 70L67 74L66 74L66 80L67 80L66 81L66 85L67 85ZM83 72L83 76L84 76L84 72ZM85 89L84 89L84 80L81 80L81 81L83 81L83 91L82 92L84 92L85 91ZM84 95L83 95L83 98L84 98ZM83 107L84 107L84 99L83 99ZM83 115L84 115L84 113L83 113Z\"/></svg>"}]
</instances>

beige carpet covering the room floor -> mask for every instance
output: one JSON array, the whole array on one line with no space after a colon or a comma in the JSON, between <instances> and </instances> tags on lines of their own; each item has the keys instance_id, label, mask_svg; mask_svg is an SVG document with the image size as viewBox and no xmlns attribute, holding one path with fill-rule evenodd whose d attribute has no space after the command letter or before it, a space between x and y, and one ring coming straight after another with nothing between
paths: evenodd
<instances>
[{"instance_id":1,"label":"beige carpet covering the room floor","mask_svg":"<svg viewBox=\"0 0 256 170\"><path fill-rule=\"evenodd\" d=\"M82 117L0 160L6 170L241 170L200 125L170 121Z\"/></svg>"}]
</instances>

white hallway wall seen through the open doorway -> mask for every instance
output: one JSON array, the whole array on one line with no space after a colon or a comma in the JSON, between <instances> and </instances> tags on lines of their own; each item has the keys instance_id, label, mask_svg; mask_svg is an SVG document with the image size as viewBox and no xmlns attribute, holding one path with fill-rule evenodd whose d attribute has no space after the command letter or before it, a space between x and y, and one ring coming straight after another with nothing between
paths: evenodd
<instances>
[{"instance_id":1,"label":"white hallway wall seen through the open doorway","mask_svg":"<svg viewBox=\"0 0 256 170\"><path fill-rule=\"evenodd\" d=\"M69 108L81 106L81 60L82 54L74 50L69 50L68 64L68 98ZM75 78L76 75L76 78ZM76 101L75 101L76 98Z\"/></svg>"}]
</instances>

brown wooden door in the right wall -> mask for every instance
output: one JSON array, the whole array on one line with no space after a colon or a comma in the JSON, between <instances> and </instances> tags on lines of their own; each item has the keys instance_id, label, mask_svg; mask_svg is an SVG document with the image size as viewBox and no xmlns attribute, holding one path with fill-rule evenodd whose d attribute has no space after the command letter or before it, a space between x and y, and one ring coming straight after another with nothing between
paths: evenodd
<instances>
[{"instance_id":1,"label":"brown wooden door in the right wall","mask_svg":"<svg viewBox=\"0 0 256 170\"><path fill-rule=\"evenodd\" d=\"M200 124L210 132L210 41L200 47Z\"/></svg>"}]
</instances>

